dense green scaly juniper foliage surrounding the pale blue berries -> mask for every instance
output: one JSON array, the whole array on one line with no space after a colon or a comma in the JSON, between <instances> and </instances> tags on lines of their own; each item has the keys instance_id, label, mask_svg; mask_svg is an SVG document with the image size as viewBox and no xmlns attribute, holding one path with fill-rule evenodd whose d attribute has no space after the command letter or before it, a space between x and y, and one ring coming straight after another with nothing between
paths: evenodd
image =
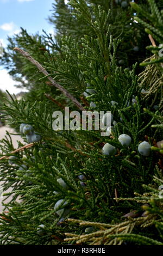
<instances>
[{"instance_id":1,"label":"dense green scaly juniper foliage surrounding the pale blue berries","mask_svg":"<svg viewBox=\"0 0 163 256\"><path fill-rule=\"evenodd\" d=\"M138 8L141 19L146 14L143 2L139 8L131 4ZM160 6L148 2L152 15L160 15ZM162 73L159 65L145 69L137 65L153 58L146 51L148 41L142 22L131 19L133 8L129 4L124 9L115 1L71 0L70 5L65 5L58 0L53 11L49 20L57 29L55 38L46 32L30 35L22 28L20 35L9 38L1 58L10 75L29 90L19 101L10 95L3 104L3 117L17 134L25 123L32 125L42 139L27 144L26 136L21 134L26 145L19 143L17 150L9 134L1 141L0 179L4 199L11 197L8 203L3 202L0 243L121 245L129 241L132 245L162 245L162 199L158 196L162 149L156 148L162 140ZM146 19L158 29L161 20L152 15ZM140 47L138 53L134 46ZM70 111L78 110L77 106L28 59L15 53L14 47L22 48L41 63L86 110L94 110L90 105L94 102L97 111L111 111L116 121L112 134L102 137L95 130L54 131L53 112L64 113L65 106ZM87 86L95 93L84 97ZM118 104L112 105L111 101ZM118 141L122 133L131 137L129 147ZM139 154L142 141L155 149L148 157ZM117 154L103 155L105 143L116 147ZM84 175L83 183L79 175ZM67 187L59 184L60 178ZM8 188L11 192L6 193ZM57 211L63 205L54 210L60 199L67 202L64 208L70 209L61 223ZM141 205L145 203L148 214L142 216ZM132 210L139 217L124 221L124 214ZM40 224L44 225L42 235L37 229ZM85 234L85 226L95 230Z\"/></svg>"}]
</instances>

